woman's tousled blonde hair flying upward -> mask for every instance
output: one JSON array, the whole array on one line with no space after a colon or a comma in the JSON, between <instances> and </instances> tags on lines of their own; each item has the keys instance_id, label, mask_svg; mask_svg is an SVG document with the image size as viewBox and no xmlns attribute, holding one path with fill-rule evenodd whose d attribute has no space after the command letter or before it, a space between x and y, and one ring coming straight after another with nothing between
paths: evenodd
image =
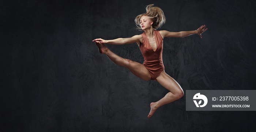
<instances>
[{"instance_id":1,"label":"woman's tousled blonde hair flying upward","mask_svg":"<svg viewBox=\"0 0 256 132\"><path fill-rule=\"evenodd\" d=\"M165 14L163 14L162 9L159 7L153 7L153 6L154 6L154 4L147 5L146 13L136 16L136 18L135 18L135 23L137 26L136 29L142 30L140 27L140 18L143 15L148 16L153 21L153 24L152 24L153 30L157 30L163 24L165 24L166 18L165 18Z\"/></svg>"}]
</instances>

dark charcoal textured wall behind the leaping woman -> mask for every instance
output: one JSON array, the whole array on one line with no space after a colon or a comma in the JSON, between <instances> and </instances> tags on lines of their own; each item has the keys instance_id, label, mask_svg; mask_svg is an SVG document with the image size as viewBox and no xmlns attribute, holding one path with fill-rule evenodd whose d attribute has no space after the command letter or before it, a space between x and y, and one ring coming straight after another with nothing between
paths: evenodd
<instances>
[{"instance_id":1,"label":"dark charcoal textured wall behind the leaping woman","mask_svg":"<svg viewBox=\"0 0 256 132\"><path fill-rule=\"evenodd\" d=\"M255 90L256 2L246 0L0 1L0 131L255 132L255 111L185 111L185 95L147 118L168 92L98 52L95 38L142 34L134 19L162 8L165 72L185 90ZM107 45L143 63L137 44Z\"/></svg>"}]
</instances>

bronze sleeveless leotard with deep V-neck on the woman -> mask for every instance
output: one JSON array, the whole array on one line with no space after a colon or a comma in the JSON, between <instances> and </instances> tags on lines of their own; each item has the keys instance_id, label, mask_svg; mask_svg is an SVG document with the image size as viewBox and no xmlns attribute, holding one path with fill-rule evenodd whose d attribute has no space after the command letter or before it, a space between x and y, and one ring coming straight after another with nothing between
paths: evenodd
<instances>
[{"instance_id":1,"label":"bronze sleeveless leotard with deep V-neck on the woman","mask_svg":"<svg viewBox=\"0 0 256 132\"><path fill-rule=\"evenodd\" d=\"M145 32L142 34L143 42L140 45L140 51L144 58L143 65L150 73L151 80L155 80L160 73L165 69L162 61L163 52L163 38L159 31L154 30L155 41L157 43L157 50L153 50L149 44L148 38Z\"/></svg>"}]
</instances>

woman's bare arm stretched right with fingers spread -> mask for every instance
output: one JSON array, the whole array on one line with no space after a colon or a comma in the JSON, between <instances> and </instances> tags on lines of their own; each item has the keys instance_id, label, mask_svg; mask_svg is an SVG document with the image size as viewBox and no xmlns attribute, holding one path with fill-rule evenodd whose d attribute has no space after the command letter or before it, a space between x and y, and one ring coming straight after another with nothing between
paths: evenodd
<instances>
[{"instance_id":1,"label":"woman's bare arm stretched right with fingers spread","mask_svg":"<svg viewBox=\"0 0 256 132\"><path fill-rule=\"evenodd\" d=\"M187 37L189 35L192 35L192 34L199 34L199 36L202 38L202 33L204 31L207 30L204 29L205 28L205 25L199 27L197 30L194 30L194 31L180 31L180 32L169 32L169 31L165 31L165 30L162 30L161 31L161 35L163 37L178 37L178 38L182 38L182 37Z\"/></svg>"}]
</instances>

